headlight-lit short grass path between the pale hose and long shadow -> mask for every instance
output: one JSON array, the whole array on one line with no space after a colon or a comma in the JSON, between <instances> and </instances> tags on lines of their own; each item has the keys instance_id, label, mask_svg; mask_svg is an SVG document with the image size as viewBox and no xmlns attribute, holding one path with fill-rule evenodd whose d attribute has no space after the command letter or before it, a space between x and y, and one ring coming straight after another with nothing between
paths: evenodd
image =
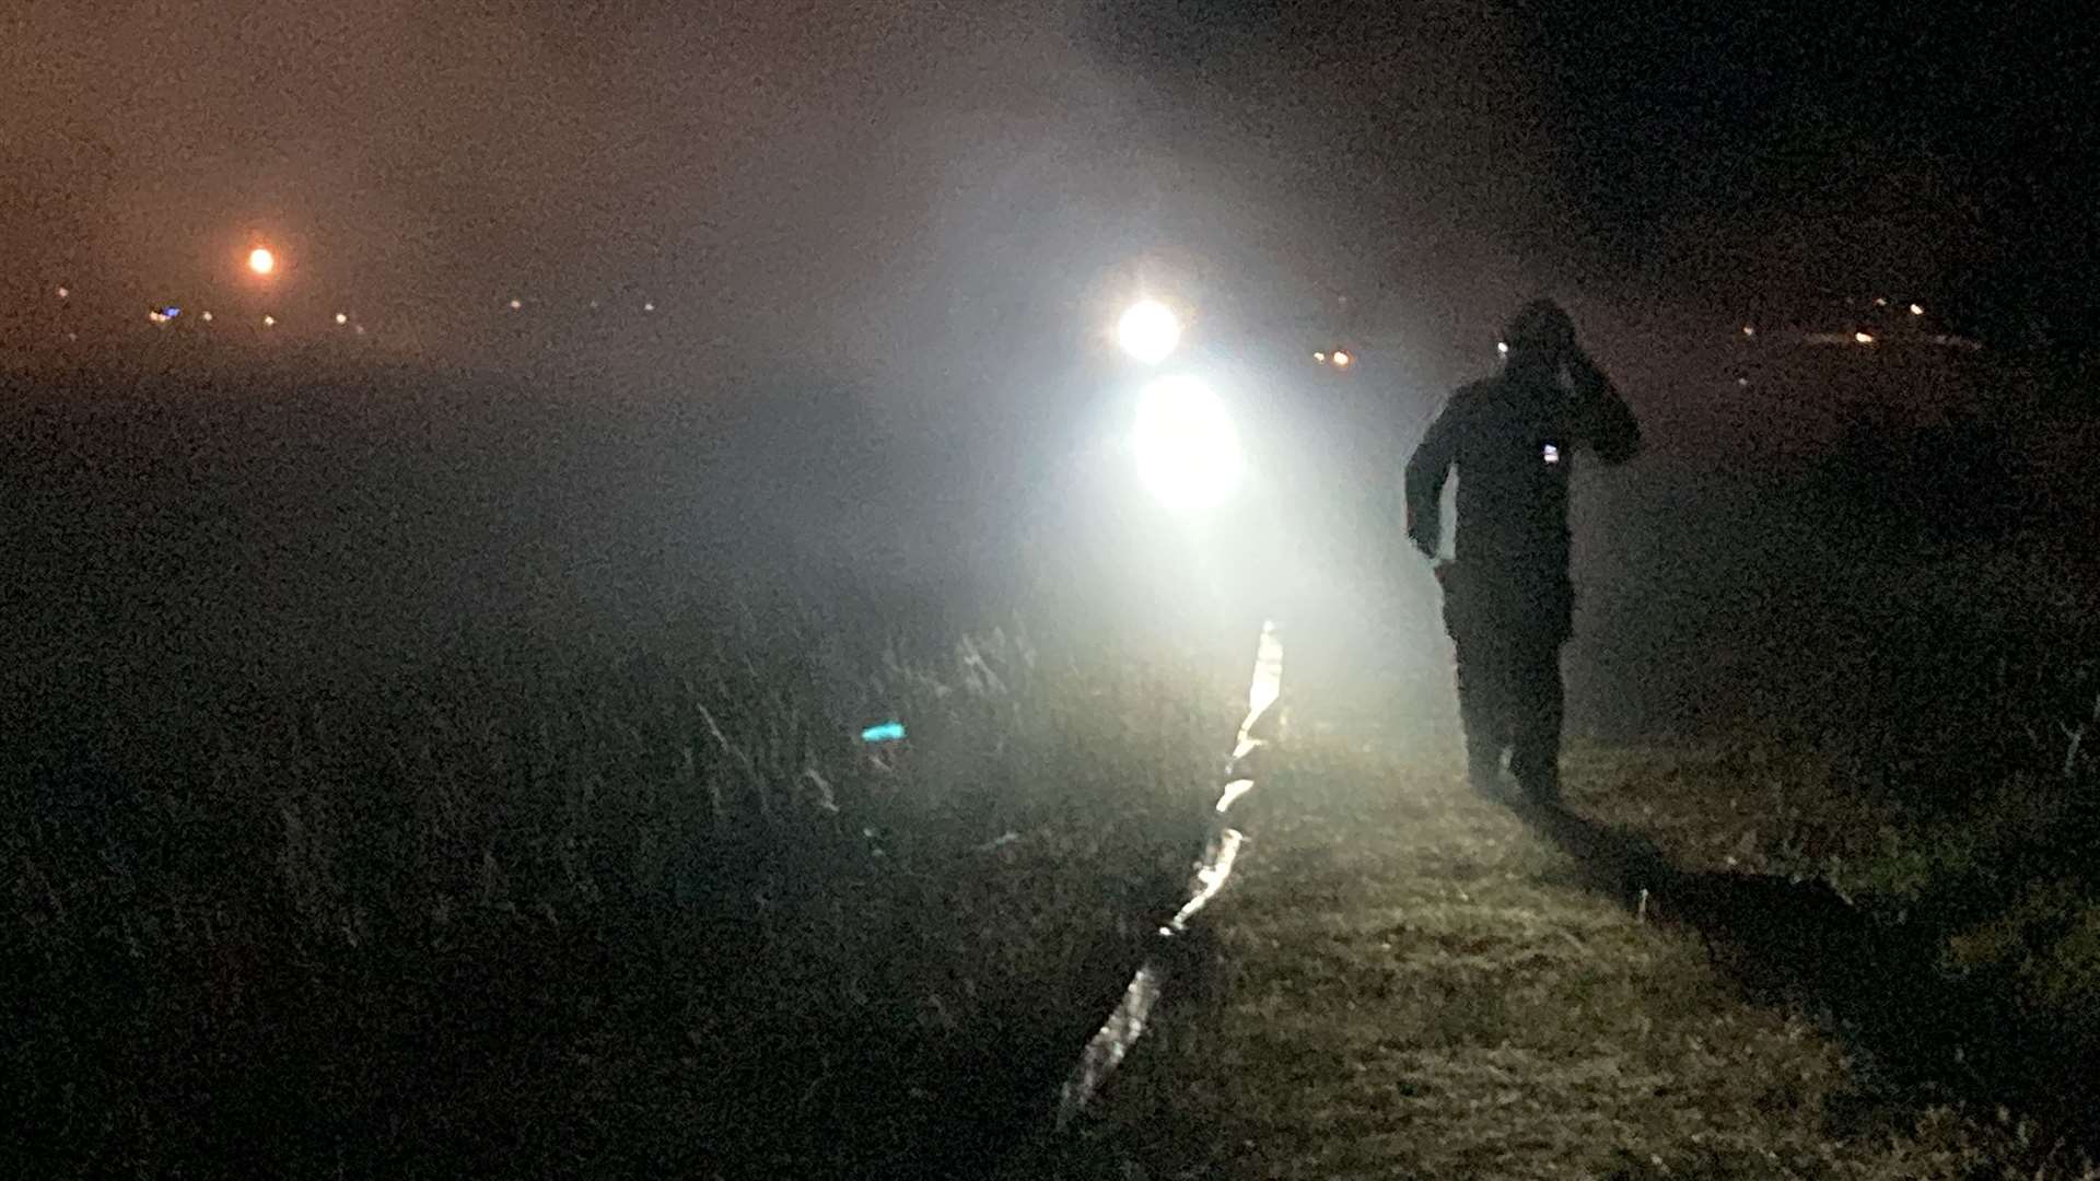
<instances>
[{"instance_id":1,"label":"headlight-lit short grass path between the pale hose and long shadow","mask_svg":"<svg viewBox=\"0 0 2100 1181\"><path fill-rule=\"evenodd\" d=\"M1247 830L1065 1175L2075 1175L2003 1118L1873 1086L1455 767L1317 746Z\"/></svg>"}]
</instances>

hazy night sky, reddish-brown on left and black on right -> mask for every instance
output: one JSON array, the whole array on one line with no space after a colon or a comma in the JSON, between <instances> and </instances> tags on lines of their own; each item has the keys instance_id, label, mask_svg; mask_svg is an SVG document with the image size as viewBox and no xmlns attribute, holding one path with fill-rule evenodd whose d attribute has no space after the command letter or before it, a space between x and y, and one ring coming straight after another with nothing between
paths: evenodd
<instances>
[{"instance_id":1,"label":"hazy night sky, reddish-brown on left and black on right","mask_svg":"<svg viewBox=\"0 0 2100 1181\"><path fill-rule=\"evenodd\" d=\"M882 368L1157 256L1438 328L1892 290L2090 334L2075 6L1640 8L17 4L0 294L231 298L267 240L321 303L653 298Z\"/></svg>"}]
</instances>

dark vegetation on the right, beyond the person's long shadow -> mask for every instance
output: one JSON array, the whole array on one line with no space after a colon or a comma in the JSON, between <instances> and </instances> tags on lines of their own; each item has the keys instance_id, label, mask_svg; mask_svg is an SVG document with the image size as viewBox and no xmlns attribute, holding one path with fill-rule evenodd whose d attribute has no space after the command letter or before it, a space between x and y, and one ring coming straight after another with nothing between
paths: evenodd
<instances>
[{"instance_id":1,"label":"dark vegetation on the right, beyond the person's long shadow","mask_svg":"<svg viewBox=\"0 0 2100 1181\"><path fill-rule=\"evenodd\" d=\"M2054 536L1890 559L1791 740L1598 750L1539 817L1628 906L1699 929L1913 1095L2100 1143L2100 630ZM1825 620L1804 626L1829 626Z\"/></svg>"}]
</instances>

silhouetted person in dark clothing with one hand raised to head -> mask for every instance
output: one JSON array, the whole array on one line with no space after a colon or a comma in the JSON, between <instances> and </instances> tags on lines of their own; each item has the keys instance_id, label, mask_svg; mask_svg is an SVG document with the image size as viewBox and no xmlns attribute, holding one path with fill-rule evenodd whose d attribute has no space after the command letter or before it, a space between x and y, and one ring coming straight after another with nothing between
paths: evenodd
<instances>
[{"instance_id":1,"label":"silhouetted person in dark clothing with one hand raised to head","mask_svg":"<svg viewBox=\"0 0 2100 1181\"><path fill-rule=\"evenodd\" d=\"M1510 322L1502 372L1462 387L1407 460L1407 536L1432 561L1457 467L1455 559L1436 565L1457 651L1472 784L1499 794L1502 757L1535 803L1560 796L1560 645L1573 630L1569 475L1575 450L1625 462L1640 424L1552 301Z\"/></svg>"}]
</instances>

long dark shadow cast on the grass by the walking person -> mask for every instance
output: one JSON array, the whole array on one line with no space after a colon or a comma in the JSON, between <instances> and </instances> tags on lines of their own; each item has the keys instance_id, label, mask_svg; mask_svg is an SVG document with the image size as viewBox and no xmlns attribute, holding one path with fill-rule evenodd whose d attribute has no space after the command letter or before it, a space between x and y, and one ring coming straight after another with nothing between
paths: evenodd
<instances>
[{"instance_id":1,"label":"long dark shadow cast on the grass by the walking person","mask_svg":"<svg viewBox=\"0 0 2100 1181\"><path fill-rule=\"evenodd\" d=\"M1564 807L1516 811L1590 889L1699 931L1724 975L1760 1000L1819 1013L1888 1082L1926 1099L2010 1103L2071 1141L2100 1141L2090 1063L2003 990L1942 971L1930 925L1877 923L1823 880L1682 870L1642 832Z\"/></svg>"}]
</instances>

